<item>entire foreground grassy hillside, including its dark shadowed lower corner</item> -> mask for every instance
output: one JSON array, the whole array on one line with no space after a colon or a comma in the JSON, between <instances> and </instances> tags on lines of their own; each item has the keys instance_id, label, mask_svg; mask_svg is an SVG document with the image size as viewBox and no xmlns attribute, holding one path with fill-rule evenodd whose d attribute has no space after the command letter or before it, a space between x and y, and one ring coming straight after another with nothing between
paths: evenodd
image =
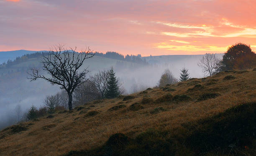
<instances>
[{"instance_id":1,"label":"entire foreground grassy hillside, including its dark shadowed lower corner","mask_svg":"<svg viewBox=\"0 0 256 156\"><path fill-rule=\"evenodd\" d=\"M256 69L94 101L0 132L0 155L255 155ZM115 134L115 135L113 135Z\"/></svg>"}]
</instances>

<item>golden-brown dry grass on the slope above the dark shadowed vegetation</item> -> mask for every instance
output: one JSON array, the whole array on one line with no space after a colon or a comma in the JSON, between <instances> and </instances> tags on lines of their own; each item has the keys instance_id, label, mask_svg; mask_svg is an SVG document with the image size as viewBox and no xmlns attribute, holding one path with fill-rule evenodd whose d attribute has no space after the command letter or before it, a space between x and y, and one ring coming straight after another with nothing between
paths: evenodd
<instances>
[{"instance_id":1,"label":"golden-brown dry grass on the slope above the dark shadowed vegetation","mask_svg":"<svg viewBox=\"0 0 256 156\"><path fill-rule=\"evenodd\" d=\"M230 74L236 79L224 79ZM55 113L54 118L42 117L39 121L20 124L19 126L27 128L26 131L13 133L10 128L1 131L0 155L62 155L71 150L101 146L115 133L134 138L150 128L168 130L174 135L179 135L184 123L193 123L198 119L218 114L242 102L255 101L255 82L256 71L221 72L213 77L190 79L168 86L172 89L173 97L187 95L191 98L181 102L169 100L170 96L164 101L156 100L168 94L168 88L164 91L160 88L147 89L143 94L131 95L134 99L125 97L127 101L124 97L97 100L73 111ZM221 96L198 102L197 99L206 92L218 92ZM151 98L151 104L141 104L145 97ZM157 103L153 103L152 99ZM121 108L118 106L120 104L123 105ZM93 107L89 108L92 105ZM118 109L108 111L115 106L118 106ZM135 106L140 108L131 111ZM157 113L152 113L156 108Z\"/></svg>"}]
</instances>

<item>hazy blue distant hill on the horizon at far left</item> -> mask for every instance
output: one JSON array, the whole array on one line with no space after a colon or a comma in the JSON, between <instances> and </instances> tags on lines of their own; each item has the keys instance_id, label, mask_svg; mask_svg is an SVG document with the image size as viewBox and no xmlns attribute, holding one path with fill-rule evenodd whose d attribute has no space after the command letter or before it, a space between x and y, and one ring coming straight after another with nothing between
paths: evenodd
<instances>
[{"instance_id":1,"label":"hazy blue distant hill on the horizon at far left","mask_svg":"<svg viewBox=\"0 0 256 156\"><path fill-rule=\"evenodd\" d=\"M30 50L14 50L7 52L0 52L0 64L7 62L8 59L14 60L16 57L21 57L24 54L32 54L39 51L30 51Z\"/></svg>"}]
</instances>

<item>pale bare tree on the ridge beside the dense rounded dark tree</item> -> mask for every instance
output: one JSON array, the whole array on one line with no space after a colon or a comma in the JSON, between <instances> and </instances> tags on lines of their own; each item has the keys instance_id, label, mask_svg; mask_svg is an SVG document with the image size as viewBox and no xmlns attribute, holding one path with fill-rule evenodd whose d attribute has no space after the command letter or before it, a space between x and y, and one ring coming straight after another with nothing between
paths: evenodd
<instances>
[{"instance_id":1,"label":"pale bare tree on the ridge beside the dense rounded dark tree","mask_svg":"<svg viewBox=\"0 0 256 156\"><path fill-rule=\"evenodd\" d=\"M204 72L205 75L212 76L218 69L219 62L220 60L215 54L206 53L197 65L202 68L202 72Z\"/></svg>"}]
</instances>

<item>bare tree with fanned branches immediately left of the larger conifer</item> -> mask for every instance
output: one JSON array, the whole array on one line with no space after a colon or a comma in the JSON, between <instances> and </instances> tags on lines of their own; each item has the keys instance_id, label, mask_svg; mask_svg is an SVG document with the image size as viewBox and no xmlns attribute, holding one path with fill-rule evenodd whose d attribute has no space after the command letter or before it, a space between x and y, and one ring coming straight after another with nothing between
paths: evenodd
<instances>
[{"instance_id":1,"label":"bare tree with fanned branches immediately left of the larger conifer","mask_svg":"<svg viewBox=\"0 0 256 156\"><path fill-rule=\"evenodd\" d=\"M109 70L99 71L91 77L92 82L95 84L98 92L100 92L100 97L103 99L107 92L107 82L109 79Z\"/></svg>"}]
</instances>

